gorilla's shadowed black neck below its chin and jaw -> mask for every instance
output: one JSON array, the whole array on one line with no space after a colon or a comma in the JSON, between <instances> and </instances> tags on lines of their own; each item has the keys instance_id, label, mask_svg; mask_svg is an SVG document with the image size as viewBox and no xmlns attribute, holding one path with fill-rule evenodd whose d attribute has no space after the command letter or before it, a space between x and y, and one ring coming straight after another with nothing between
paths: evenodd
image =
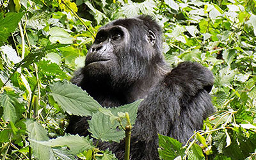
<instances>
[{"instance_id":1,"label":"gorilla's shadowed black neck below its chin and jaw","mask_svg":"<svg viewBox=\"0 0 256 160\"><path fill-rule=\"evenodd\" d=\"M153 72L154 70L154 72ZM141 76L130 84L120 84L113 88L113 84L108 79L95 81L90 77L84 77L81 87L86 90L93 99L102 106L115 107L134 102L138 99L145 99L150 88L156 84L166 72L166 67L151 68L147 70L145 76Z\"/></svg>"}]
</instances>

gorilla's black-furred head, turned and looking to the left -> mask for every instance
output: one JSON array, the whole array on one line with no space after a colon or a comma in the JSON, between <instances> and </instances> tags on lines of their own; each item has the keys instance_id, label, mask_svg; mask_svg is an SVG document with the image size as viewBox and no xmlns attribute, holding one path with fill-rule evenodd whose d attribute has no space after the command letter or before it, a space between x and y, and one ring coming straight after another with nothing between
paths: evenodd
<instances>
[{"instance_id":1,"label":"gorilla's black-furred head, turned and looking to the left","mask_svg":"<svg viewBox=\"0 0 256 160\"><path fill-rule=\"evenodd\" d=\"M150 78L164 65L161 36L161 27L145 15L106 24L86 56L83 82L113 89Z\"/></svg>"}]
</instances>

